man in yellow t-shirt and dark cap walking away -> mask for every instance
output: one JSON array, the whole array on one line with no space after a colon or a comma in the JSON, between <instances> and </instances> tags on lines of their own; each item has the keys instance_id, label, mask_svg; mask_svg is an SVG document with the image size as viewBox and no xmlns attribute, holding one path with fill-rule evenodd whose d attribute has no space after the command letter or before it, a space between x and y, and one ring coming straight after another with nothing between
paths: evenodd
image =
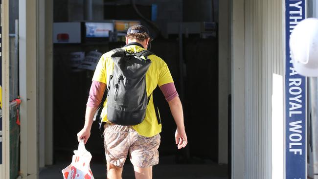
<instances>
[{"instance_id":1,"label":"man in yellow t-shirt and dark cap walking away","mask_svg":"<svg viewBox=\"0 0 318 179\"><path fill-rule=\"evenodd\" d=\"M78 140L84 139L84 143L86 143L89 139L94 114L102 102L104 91L107 90L110 94L112 94L112 97L107 97L103 104L104 107L100 116L105 129L104 146L107 160L108 179L121 179L122 167L128 153L130 155L130 160L134 165L136 179L152 179L152 166L159 162L158 148L160 144L159 133L161 132L161 121L158 115L159 112L157 111L158 109L155 109L154 107L152 97L152 92L156 89L157 85L168 101L171 113L177 125L175 133L177 147L178 149L181 149L187 145L187 137L183 123L182 104L178 92L174 86L167 64L155 54L145 51L150 46L150 41L149 31L145 26L134 25L130 27L126 35L127 45L103 54L97 64L92 78L84 128L77 134L77 137ZM144 88L145 94L147 94L146 104L144 105L146 106L145 115L143 120L141 120L142 122L136 125L118 125L117 122L114 122L117 121L117 119L113 119L113 117L116 117L118 112L115 113L115 115L114 112L111 111L111 105L109 108L107 107L107 104L109 103L112 104L113 108L117 108L114 105L117 101L125 101L120 99L121 94L120 89L118 90L118 86L128 86L130 83L128 75L119 76L118 82L117 79L113 78L113 76L115 76L114 73L118 73L118 70L125 65L125 63L120 61L120 55L115 55L118 51L123 51L118 54L133 54L138 56L136 57L137 59L142 58L145 60L145 63L146 61L150 63L149 68L146 70L144 75L146 84ZM143 52L147 53L139 56L140 54L143 54ZM122 56L123 55L121 55L121 57ZM119 61L116 61L116 59L119 59ZM138 68L137 65L139 64L132 65L136 67L134 70ZM117 72L114 69L116 69ZM126 68L122 70L126 70ZM132 69L132 71L134 70ZM113 86L113 84L115 85ZM112 92L109 90L111 88L116 88L116 91ZM121 107L129 108L130 104L124 104ZM107 117L107 113L110 115L109 118ZM118 114L117 116L120 115Z\"/></svg>"}]
</instances>

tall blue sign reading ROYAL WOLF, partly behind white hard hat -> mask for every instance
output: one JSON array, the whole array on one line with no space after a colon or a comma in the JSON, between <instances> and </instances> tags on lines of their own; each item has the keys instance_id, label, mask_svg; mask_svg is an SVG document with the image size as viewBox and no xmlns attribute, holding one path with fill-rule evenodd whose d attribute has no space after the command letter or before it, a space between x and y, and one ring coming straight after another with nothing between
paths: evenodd
<instances>
[{"instance_id":1,"label":"tall blue sign reading ROYAL WOLF, partly behind white hard hat","mask_svg":"<svg viewBox=\"0 0 318 179\"><path fill-rule=\"evenodd\" d=\"M292 63L290 35L306 18L306 0L286 2L286 179L307 179L306 150L306 77L299 75Z\"/></svg>"}]
</instances>

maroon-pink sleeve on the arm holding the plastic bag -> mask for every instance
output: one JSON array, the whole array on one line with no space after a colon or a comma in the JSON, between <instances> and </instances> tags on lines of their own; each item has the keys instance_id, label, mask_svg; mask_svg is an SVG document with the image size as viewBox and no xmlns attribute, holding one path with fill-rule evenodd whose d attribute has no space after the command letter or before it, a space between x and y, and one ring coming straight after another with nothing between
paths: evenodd
<instances>
[{"instance_id":1,"label":"maroon-pink sleeve on the arm holding the plastic bag","mask_svg":"<svg viewBox=\"0 0 318 179\"><path fill-rule=\"evenodd\" d=\"M104 91L106 89L106 84L98 81L92 81L90 96L87 100L86 106L88 107L99 107L102 102Z\"/></svg>"}]
</instances>

